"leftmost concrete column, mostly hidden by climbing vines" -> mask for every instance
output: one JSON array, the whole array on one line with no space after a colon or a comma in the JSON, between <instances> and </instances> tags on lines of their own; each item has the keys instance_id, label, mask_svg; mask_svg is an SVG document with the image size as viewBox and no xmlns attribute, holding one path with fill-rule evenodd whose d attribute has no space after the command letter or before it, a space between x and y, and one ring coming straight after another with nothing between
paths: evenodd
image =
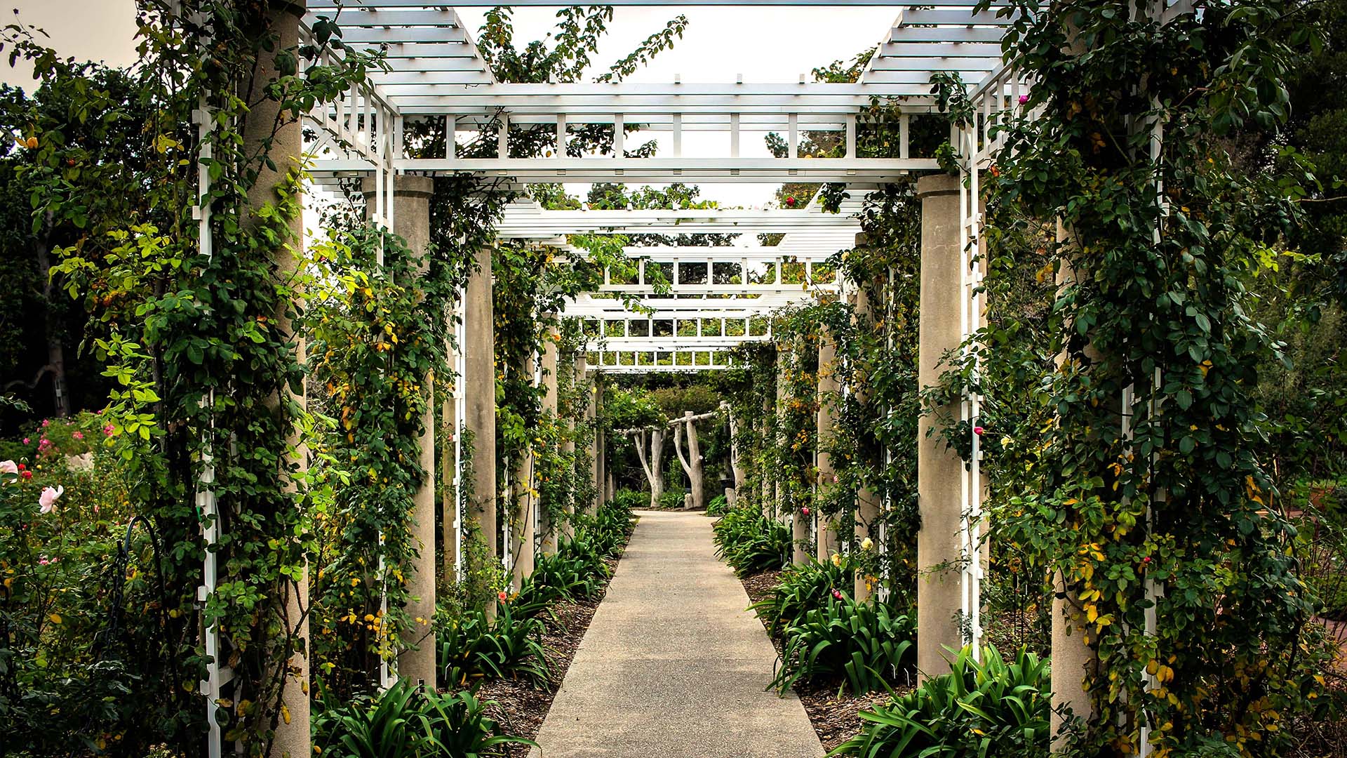
<instances>
[{"instance_id":1,"label":"leftmost concrete column, mostly hidden by climbing vines","mask_svg":"<svg viewBox=\"0 0 1347 758\"><path fill-rule=\"evenodd\" d=\"M280 76L276 58L283 53L288 54L294 51L299 45L299 19L303 15L304 0L288 3L272 1L267 11L265 27L249 31L249 36L253 39L271 38L273 40L269 49L259 47L257 50L257 62L253 67L256 92L260 92L268 82L275 81ZM248 82L244 82L244 86L248 86ZM271 148L268 156L276 166L275 170L269 169L265 163L257 166L257 181L248 190L249 209L257 210L276 201L276 190L286 181L287 174L298 167L300 155L303 154L303 135L300 134L299 120L292 119L288 113L283 113L280 103L264 98L259 103L249 103L249 105L252 105L252 111L242 124L244 154L253 155L259 152L265 140L269 139ZM249 217L245 223L255 225L257 221ZM277 245L272 251L280 279L288 278L299 266L302 256L295 255L292 250L303 250L300 247L304 243L303 232L303 218L292 218L290 223L291 239L288 240L291 247ZM303 337L295 333L286 312L286 308L279 308L273 318L282 332L294 336L296 359L303 363ZM300 405L306 402L303 392L292 399ZM282 405L280 398L273 398L273 401L277 407ZM276 409L273 407L272 410ZM307 468L308 452L302 445L299 430L291 429L288 436L290 441L296 446L295 457L298 460L292 463L300 469ZM276 537L282 535L277 534ZM283 584L279 587L279 592L283 596L286 607L286 626L290 629L296 629L298 626L298 641L296 653L290 657L288 665L288 672L295 673L287 673L280 692L280 701L277 703L277 707L288 713L288 719L280 719L276 723L276 736L272 740L271 755L273 758L300 758L313 754L313 739L308 724L308 568L304 566L303 577L294 587L288 583ZM298 619L306 620L299 622Z\"/></svg>"}]
</instances>

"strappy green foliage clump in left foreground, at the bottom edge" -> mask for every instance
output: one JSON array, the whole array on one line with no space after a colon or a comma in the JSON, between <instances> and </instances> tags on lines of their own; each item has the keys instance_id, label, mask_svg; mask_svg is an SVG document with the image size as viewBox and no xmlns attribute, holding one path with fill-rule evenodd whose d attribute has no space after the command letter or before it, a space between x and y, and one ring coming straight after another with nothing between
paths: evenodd
<instances>
[{"instance_id":1,"label":"strappy green foliage clump in left foreground, at the bottom edge","mask_svg":"<svg viewBox=\"0 0 1347 758\"><path fill-rule=\"evenodd\" d=\"M438 693L400 680L377 697L323 708L314 750L334 758L478 758L506 743L486 704L471 692Z\"/></svg>"}]
</instances>

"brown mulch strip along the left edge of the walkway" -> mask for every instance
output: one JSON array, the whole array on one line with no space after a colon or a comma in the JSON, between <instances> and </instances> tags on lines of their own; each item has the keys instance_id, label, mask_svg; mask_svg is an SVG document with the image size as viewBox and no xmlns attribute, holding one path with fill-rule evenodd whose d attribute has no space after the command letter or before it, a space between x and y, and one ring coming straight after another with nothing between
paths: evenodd
<instances>
[{"instance_id":1,"label":"brown mulch strip along the left edge of the walkway","mask_svg":"<svg viewBox=\"0 0 1347 758\"><path fill-rule=\"evenodd\" d=\"M617 568L617 560L609 558L605 562L612 576ZM589 624L598 611L598 604L606 593L607 583L605 581L597 597L578 603L558 603L552 607L555 618L546 619L547 633L543 635L543 643L552 650L552 681L547 689L533 689L528 682L501 678L481 684L477 696L494 701L486 707L486 712L500 724L501 732L537 739L537 731L543 728L543 720L547 719L547 712L552 708L552 699L556 697L566 670L571 666L571 660L575 658L575 650L579 649L581 639L585 638L585 631L589 630ZM525 758L528 751L527 745L509 745L501 750L500 755Z\"/></svg>"}]
</instances>

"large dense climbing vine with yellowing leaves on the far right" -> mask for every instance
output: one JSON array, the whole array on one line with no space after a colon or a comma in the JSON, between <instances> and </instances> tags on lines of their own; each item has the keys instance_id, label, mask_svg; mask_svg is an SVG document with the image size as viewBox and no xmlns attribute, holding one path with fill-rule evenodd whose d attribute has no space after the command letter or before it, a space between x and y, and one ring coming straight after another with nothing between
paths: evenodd
<instances>
[{"instance_id":1,"label":"large dense climbing vine with yellowing leaves on the far right","mask_svg":"<svg viewBox=\"0 0 1347 758\"><path fill-rule=\"evenodd\" d=\"M1014 7L1006 50L1036 85L997 129L989 247L1037 244L994 252L987 289L1013 302L1025 272L1057 289L1044 344L1001 351L1005 309L973 343L985 368L951 375L1032 391L981 421L998 538L1053 579L1098 658L1076 754L1136 753L1142 726L1156 755L1274 754L1315 687L1312 599L1259 461L1250 391L1280 356L1245 286L1296 213L1293 187L1238 170L1218 138L1276 129L1309 31L1259 1L1168 23L1127 3Z\"/></svg>"}]
</instances>

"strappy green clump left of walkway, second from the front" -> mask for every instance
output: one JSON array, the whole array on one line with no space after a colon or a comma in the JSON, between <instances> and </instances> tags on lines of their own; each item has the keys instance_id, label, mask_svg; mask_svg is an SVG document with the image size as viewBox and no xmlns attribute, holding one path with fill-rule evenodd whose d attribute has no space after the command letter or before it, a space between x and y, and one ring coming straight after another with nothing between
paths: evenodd
<instances>
[{"instance_id":1,"label":"strappy green clump left of walkway, second from the front","mask_svg":"<svg viewBox=\"0 0 1347 758\"><path fill-rule=\"evenodd\" d=\"M451 688L481 678L516 678L533 687L552 676L551 655L543 646L543 620L516 610L515 603L496 606L496 620L473 611L442 623L438 630L439 665Z\"/></svg>"}]
</instances>

